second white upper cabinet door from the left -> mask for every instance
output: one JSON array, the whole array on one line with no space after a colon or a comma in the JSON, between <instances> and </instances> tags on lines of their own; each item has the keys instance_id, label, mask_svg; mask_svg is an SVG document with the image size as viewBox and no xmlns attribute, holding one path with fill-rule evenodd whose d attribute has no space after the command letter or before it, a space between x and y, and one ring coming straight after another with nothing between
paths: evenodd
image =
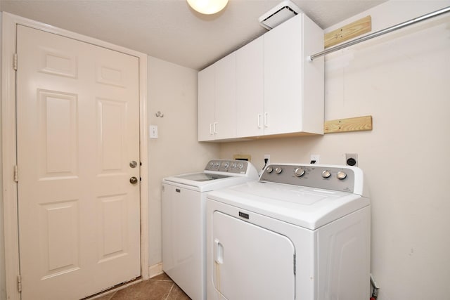
<instances>
[{"instance_id":1,"label":"second white upper cabinet door from the left","mask_svg":"<svg viewBox=\"0 0 450 300\"><path fill-rule=\"evenodd\" d=\"M216 139L236 138L236 52L214 64Z\"/></svg>"}]
</instances>

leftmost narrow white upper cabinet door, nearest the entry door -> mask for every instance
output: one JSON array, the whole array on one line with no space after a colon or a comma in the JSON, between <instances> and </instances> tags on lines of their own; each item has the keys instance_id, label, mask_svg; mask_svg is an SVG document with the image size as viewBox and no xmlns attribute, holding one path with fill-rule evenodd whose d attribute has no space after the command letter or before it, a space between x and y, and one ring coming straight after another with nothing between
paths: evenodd
<instances>
[{"instance_id":1,"label":"leftmost narrow white upper cabinet door, nearest the entry door","mask_svg":"<svg viewBox=\"0 0 450 300\"><path fill-rule=\"evenodd\" d=\"M214 65L198 72L198 141L214 140Z\"/></svg>"}]
</instances>

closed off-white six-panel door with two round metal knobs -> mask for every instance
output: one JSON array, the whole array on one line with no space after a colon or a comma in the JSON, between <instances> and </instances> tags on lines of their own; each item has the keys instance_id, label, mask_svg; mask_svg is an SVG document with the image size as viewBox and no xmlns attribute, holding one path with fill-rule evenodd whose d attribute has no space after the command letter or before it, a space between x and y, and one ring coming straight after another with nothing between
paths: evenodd
<instances>
[{"instance_id":1,"label":"closed off-white six-panel door with two round metal knobs","mask_svg":"<svg viewBox=\"0 0 450 300\"><path fill-rule=\"evenodd\" d=\"M17 51L22 299L139 277L139 59L22 25Z\"/></svg>"}]
</instances>

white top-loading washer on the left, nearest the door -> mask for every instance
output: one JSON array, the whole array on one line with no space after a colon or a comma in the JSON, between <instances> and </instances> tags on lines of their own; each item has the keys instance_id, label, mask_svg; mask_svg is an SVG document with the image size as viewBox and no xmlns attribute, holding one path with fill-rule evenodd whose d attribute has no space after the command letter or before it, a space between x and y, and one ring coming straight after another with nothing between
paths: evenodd
<instances>
[{"instance_id":1,"label":"white top-loading washer on the left, nearest the door","mask_svg":"<svg viewBox=\"0 0 450 300\"><path fill-rule=\"evenodd\" d=\"M191 299L206 299L206 193L257 181L240 160L212 160L205 170L162 181L162 270Z\"/></svg>"}]
</instances>

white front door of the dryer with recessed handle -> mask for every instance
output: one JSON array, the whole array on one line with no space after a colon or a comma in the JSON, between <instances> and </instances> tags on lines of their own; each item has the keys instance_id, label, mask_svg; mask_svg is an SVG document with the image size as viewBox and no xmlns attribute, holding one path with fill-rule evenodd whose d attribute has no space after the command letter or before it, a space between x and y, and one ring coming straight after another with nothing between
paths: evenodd
<instances>
[{"instance_id":1,"label":"white front door of the dryer with recessed handle","mask_svg":"<svg viewBox=\"0 0 450 300\"><path fill-rule=\"evenodd\" d=\"M226 299L295 299L295 247L271 230L214 211L212 280Z\"/></svg>"}]
</instances>

